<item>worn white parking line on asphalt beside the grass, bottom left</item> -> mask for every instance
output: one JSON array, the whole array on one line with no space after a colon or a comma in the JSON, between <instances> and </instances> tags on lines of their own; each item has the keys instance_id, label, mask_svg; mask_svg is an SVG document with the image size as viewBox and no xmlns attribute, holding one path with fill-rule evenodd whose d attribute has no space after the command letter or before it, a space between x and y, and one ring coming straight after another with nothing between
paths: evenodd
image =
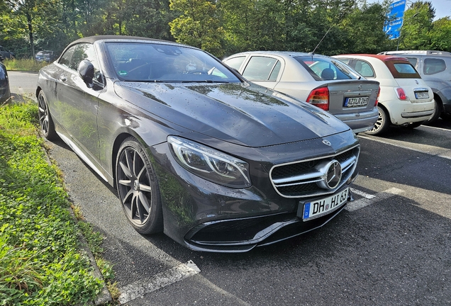
<instances>
[{"instance_id":1,"label":"worn white parking line on asphalt beside the grass, bottom left","mask_svg":"<svg viewBox=\"0 0 451 306\"><path fill-rule=\"evenodd\" d=\"M196 266L193 261L182 263L179 266L171 268L167 271L156 274L152 278L145 278L143 280L135 281L122 288L119 288L121 295L119 296L119 302L124 304L135 300L138 297L143 297L147 293L163 288L167 285L177 283L179 280L194 276L200 273L201 270Z\"/></svg>"}]
</instances>

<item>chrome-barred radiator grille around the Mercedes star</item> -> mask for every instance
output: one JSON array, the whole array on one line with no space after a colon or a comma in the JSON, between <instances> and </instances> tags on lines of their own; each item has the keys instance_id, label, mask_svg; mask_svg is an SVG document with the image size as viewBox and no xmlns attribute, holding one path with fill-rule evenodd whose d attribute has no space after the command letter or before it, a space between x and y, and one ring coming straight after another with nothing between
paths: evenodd
<instances>
[{"instance_id":1,"label":"chrome-barred radiator grille around the Mercedes star","mask_svg":"<svg viewBox=\"0 0 451 306\"><path fill-rule=\"evenodd\" d=\"M303 198L320 196L338 190L352 176L357 166L360 146L347 149L335 155L308 159L300 162L291 162L273 166L269 172L272 185L277 193L285 198ZM342 176L340 184L333 189L321 187L325 181L325 173L319 170L321 164L331 161L340 163Z\"/></svg>"}]
</instances>

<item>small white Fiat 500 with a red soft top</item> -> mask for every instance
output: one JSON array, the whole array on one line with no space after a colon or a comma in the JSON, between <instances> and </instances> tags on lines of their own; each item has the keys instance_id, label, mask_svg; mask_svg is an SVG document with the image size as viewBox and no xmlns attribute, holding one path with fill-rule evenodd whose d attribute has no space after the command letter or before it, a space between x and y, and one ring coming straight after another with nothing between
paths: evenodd
<instances>
[{"instance_id":1,"label":"small white Fiat 500 with a red soft top","mask_svg":"<svg viewBox=\"0 0 451 306\"><path fill-rule=\"evenodd\" d=\"M390 125L416 128L434 112L434 94L405 57L336 55L366 79L379 81L379 119L367 133L381 134Z\"/></svg>"}]
</instances>

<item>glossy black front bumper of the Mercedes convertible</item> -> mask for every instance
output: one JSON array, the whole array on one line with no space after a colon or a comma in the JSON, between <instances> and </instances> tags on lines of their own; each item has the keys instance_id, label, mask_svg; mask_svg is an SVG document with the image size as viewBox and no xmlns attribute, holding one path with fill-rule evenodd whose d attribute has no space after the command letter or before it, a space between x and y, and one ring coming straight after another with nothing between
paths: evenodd
<instances>
[{"instance_id":1,"label":"glossy black front bumper of the Mercedes convertible","mask_svg":"<svg viewBox=\"0 0 451 306\"><path fill-rule=\"evenodd\" d=\"M299 203L331 196L349 187L357 176L359 146L350 130L324 140L332 146L325 145L323 139L264 148L227 144L229 154L249 158L252 186L244 189L220 186L191 174L176 162L167 143L150 148L150 156L156 158L152 164L160 185L165 234L198 251L242 252L325 225L345 204L304 222L297 216ZM347 152L353 152L352 158ZM292 172L304 171L304 166L296 161L313 167L316 159L336 159L343 164L340 186L329 191L316 190L316 183ZM345 159L353 159L355 165L349 166ZM272 171L274 167L278 168L277 173ZM291 177L302 177L303 185L287 181ZM285 183L276 186L272 180Z\"/></svg>"}]
</instances>

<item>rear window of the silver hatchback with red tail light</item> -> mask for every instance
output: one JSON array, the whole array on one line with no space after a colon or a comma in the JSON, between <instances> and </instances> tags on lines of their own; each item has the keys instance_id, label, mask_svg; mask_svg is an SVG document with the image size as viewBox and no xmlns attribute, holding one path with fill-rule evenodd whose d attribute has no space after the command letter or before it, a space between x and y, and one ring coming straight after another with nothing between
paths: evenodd
<instances>
[{"instance_id":1,"label":"rear window of the silver hatchback with red tail light","mask_svg":"<svg viewBox=\"0 0 451 306\"><path fill-rule=\"evenodd\" d=\"M294 57L316 81L328 81L335 79L360 79L347 64L330 57L315 55Z\"/></svg>"}]
</instances>

